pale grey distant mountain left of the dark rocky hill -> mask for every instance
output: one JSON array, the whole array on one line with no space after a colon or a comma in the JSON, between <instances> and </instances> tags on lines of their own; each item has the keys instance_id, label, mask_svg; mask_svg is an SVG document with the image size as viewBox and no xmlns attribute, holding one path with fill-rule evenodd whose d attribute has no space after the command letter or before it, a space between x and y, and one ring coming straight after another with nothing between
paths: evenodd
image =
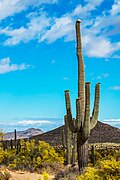
<instances>
[{"instance_id":1,"label":"pale grey distant mountain left of the dark rocky hill","mask_svg":"<svg viewBox=\"0 0 120 180\"><path fill-rule=\"evenodd\" d=\"M42 134L43 131L41 129L35 129L35 128L29 128L24 131L17 131L17 139L23 139L23 138L30 138L32 136ZM14 132L8 132L6 133L4 139L5 140L10 140L14 139Z\"/></svg>"}]
</instances>

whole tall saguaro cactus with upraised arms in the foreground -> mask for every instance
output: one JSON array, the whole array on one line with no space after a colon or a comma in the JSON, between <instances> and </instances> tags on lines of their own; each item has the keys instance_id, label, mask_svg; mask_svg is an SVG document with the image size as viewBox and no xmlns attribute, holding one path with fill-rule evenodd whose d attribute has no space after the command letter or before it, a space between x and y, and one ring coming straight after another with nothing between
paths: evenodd
<instances>
[{"instance_id":1,"label":"whole tall saguaro cactus with upraised arms in the foreground","mask_svg":"<svg viewBox=\"0 0 120 180\"><path fill-rule=\"evenodd\" d=\"M80 34L81 20L76 21L77 59L78 59L78 98L76 99L76 122L72 119L69 91L65 91L66 113L70 130L77 133L77 153L79 170L87 165L87 140L90 130L96 125L99 114L100 83L95 87L95 100L92 117L90 117L90 82L84 82L84 62Z\"/></svg>"}]
</instances>

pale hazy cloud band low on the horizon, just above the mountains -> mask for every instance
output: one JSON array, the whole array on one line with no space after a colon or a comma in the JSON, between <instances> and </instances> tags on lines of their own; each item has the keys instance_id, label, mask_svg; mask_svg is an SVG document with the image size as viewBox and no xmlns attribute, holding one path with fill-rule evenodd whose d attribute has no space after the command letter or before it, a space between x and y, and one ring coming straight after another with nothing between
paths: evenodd
<instances>
[{"instance_id":1,"label":"pale hazy cloud band low on the horizon, just above the mountains","mask_svg":"<svg viewBox=\"0 0 120 180\"><path fill-rule=\"evenodd\" d=\"M117 119L111 120L104 120L101 121L105 124L109 124L113 127L120 128L120 121ZM19 120L17 122L6 122L0 123L0 127L3 131L6 132L14 132L14 129L17 131L26 130L29 128L38 128L41 129L43 132L47 132L53 130L57 127L60 127L64 124L64 120L62 118L36 118L36 119L24 119Z\"/></svg>"}]
</instances>

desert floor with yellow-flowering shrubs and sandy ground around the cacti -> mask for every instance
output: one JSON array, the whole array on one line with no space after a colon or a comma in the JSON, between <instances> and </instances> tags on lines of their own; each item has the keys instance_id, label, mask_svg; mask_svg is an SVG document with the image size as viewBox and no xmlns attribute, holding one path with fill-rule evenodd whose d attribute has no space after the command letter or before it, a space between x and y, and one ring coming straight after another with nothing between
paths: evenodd
<instances>
[{"instance_id":1,"label":"desert floor with yellow-flowering shrubs and sandy ground around the cacti","mask_svg":"<svg viewBox=\"0 0 120 180\"><path fill-rule=\"evenodd\" d=\"M65 148L52 147L44 141L38 144L34 140L20 141L20 150L4 150L0 147L0 180L119 180L120 146L119 144L94 144L95 163L91 162L89 145L88 167L80 175L78 166L66 165ZM77 163L76 163L77 164ZM18 179L18 180L19 180Z\"/></svg>"}]
</instances>

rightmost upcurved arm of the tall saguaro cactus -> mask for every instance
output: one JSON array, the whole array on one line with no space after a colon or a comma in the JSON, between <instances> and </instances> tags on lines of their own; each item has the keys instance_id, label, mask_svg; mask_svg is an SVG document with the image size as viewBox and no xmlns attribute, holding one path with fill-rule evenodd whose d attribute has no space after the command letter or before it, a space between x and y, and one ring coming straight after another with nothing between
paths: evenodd
<instances>
[{"instance_id":1,"label":"rightmost upcurved arm of the tall saguaro cactus","mask_svg":"<svg viewBox=\"0 0 120 180\"><path fill-rule=\"evenodd\" d=\"M98 114L99 114L99 102L100 102L100 83L96 84L95 87L95 101L94 101L94 108L92 112L90 128L94 128L97 124Z\"/></svg>"}]
</instances>

